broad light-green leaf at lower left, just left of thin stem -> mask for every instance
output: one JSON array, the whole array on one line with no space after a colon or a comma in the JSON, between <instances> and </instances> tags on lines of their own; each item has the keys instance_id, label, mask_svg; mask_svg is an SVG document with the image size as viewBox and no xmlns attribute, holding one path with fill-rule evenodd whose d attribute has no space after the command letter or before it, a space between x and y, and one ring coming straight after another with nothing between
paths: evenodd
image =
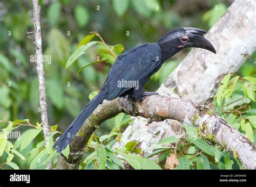
<instances>
[{"instance_id":1,"label":"broad light-green leaf at lower left, just left of thin stem","mask_svg":"<svg viewBox=\"0 0 256 187\"><path fill-rule=\"evenodd\" d=\"M28 145L33 141L33 139L36 138L36 136L41 132L42 130L39 129L30 129L28 131L25 131L21 137L21 151L28 147Z\"/></svg>"}]
</instances>

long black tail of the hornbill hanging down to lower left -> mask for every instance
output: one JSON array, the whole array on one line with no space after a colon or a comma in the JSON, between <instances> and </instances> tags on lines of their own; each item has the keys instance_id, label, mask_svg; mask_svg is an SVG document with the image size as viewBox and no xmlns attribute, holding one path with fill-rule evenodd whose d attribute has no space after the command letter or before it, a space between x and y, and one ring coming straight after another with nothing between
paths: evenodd
<instances>
[{"instance_id":1,"label":"long black tail of the hornbill hanging down to lower left","mask_svg":"<svg viewBox=\"0 0 256 187\"><path fill-rule=\"evenodd\" d=\"M53 149L57 147L58 153L65 149L68 143L71 142L73 136L75 136L75 134L79 131L80 127L84 124L84 121L91 115L96 107L103 102L105 98L105 93L103 91L100 91L99 94L84 107L82 112L79 113L78 117L73 120L73 122L65 130L62 136L60 136L60 138L56 141L55 145L53 145Z\"/></svg>"}]
</instances>

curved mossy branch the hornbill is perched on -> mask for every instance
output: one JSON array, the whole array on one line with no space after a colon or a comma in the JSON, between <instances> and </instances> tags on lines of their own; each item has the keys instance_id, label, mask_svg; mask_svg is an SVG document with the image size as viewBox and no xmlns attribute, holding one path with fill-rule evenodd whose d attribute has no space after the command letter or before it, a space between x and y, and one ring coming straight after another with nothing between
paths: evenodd
<instances>
[{"instance_id":1,"label":"curved mossy branch the hornbill is perched on","mask_svg":"<svg viewBox=\"0 0 256 187\"><path fill-rule=\"evenodd\" d=\"M66 159L59 156L57 169L78 169L80 158L87 141L103 121L125 112L132 116L142 116L149 120L174 119L180 123L193 125L199 136L217 143L237 157L247 169L256 168L256 146L228 122L217 116L209 107L186 99L153 95L142 102L117 98L99 105L70 143L70 155ZM228 136L227 136L228 134Z\"/></svg>"}]
</instances>

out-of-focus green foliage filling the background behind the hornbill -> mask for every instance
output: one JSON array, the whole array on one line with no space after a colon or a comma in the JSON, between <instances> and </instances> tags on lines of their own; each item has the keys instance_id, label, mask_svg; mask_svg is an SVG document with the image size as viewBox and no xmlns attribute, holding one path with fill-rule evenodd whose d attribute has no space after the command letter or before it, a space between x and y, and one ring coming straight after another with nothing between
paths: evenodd
<instances>
[{"instance_id":1,"label":"out-of-focus green foliage filling the background behind the hornbill","mask_svg":"<svg viewBox=\"0 0 256 187\"><path fill-rule=\"evenodd\" d=\"M43 53L50 57L50 62L44 63L50 124L58 123L64 130L89 101L89 93L100 89L114 61L111 54L104 53L104 45L102 49L98 45L97 49L80 54L75 66L65 70L71 52L89 32L97 31L111 46L118 44L114 46L118 55L140 43L155 42L175 27L194 26L208 30L230 5L226 1L191 0L188 3L193 9L183 7L182 2L159 0L39 1ZM26 34L26 31L33 31L31 2L1 2L0 25L0 92L3 95L0 119L29 118L36 123L40 116L38 81L35 63L31 62L35 46ZM92 38L82 40L82 44ZM145 89L156 90L187 52L166 62L147 82ZM90 63L93 66L89 66ZM86 68L82 68L84 66Z\"/></svg>"}]
</instances>

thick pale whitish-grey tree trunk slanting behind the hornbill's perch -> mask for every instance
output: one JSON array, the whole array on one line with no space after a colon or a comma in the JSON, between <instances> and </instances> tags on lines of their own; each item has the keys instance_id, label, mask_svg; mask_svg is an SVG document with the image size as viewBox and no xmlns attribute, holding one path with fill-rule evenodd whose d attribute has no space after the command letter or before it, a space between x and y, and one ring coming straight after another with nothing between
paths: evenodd
<instances>
[{"instance_id":1,"label":"thick pale whitish-grey tree trunk slanting behind the hornbill's perch","mask_svg":"<svg viewBox=\"0 0 256 187\"><path fill-rule=\"evenodd\" d=\"M158 89L160 95L208 103L222 78L237 71L256 49L255 1L235 1L208 31L206 38L217 54L194 48ZM145 150L160 139L174 135L179 128L177 123L172 128L172 124L171 120L147 124L146 119L136 117L123 133L122 141L139 142L140 148Z\"/></svg>"}]
</instances>

